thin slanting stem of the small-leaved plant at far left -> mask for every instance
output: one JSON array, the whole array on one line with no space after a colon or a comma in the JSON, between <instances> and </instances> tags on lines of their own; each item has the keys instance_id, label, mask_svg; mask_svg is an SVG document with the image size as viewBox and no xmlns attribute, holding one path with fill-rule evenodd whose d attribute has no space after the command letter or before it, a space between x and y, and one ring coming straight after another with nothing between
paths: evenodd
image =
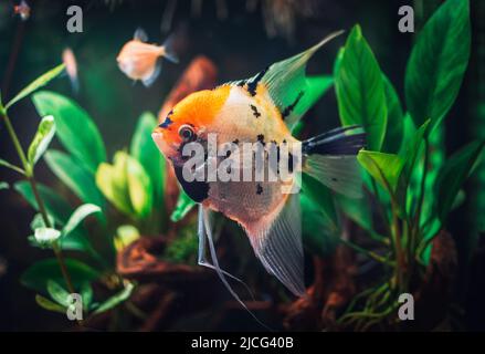
<instances>
[{"instance_id":1,"label":"thin slanting stem of the small-leaved plant at far left","mask_svg":"<svg viewBox=\"0 0 485 354\"><path fill-rule=\"evenodd\" d=\"M22 145L20 144L19 137L17 136L15 129L13 128L9 116L7 115L7 112L2 112L2 116L3 116L3 122L6 122L7 131L10 135L10 138L12 139L13 146L15 147L17 154L19 155L19 158L22 163L24 176L32 188L32 194L33 194L34 199L38 204L39 212L42 216L42 220L44 221L44 225L46 227L52 227L51 221L49 220L49 216L48 216L48 211L45 209L44 201L41 198L41 196L39 194L39 189L36 187L35 178L34 178L34 174L33 174L33 167L31 166L31 164L27 159L25 153L23 152ZM57 241L53 242L52 249L54 251L55 258L57 259L57 263L59 263L59 267L61 268L61 273L62 273L62 277L64 278L67 290L71 293L74 293L74 287L72 284L71 277L67 272L67 268L65 266L64 258L62 256L62 250L61 250L61 247L59 246Z\"/></svg>"}]
</instances>

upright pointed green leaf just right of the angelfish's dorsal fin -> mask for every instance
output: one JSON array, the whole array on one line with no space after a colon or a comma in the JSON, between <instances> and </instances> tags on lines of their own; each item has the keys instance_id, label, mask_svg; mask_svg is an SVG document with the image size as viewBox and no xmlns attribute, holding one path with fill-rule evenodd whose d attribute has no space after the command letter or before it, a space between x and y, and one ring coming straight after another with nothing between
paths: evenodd
<instances>
[{"instance_id":1,"label":"upright pointed green leaf just right of the angelfish's dorsal fin","mask_svg":"<svg viewBox=\"0 0 485 354\"><path fill-rule=\"evenodd\" d=\"M335 86L342 125L361 125L368 148L380 150L387 129L384 83L379 64L363 39L360 27L350 32Z\"/></svg>"}]
</instances>

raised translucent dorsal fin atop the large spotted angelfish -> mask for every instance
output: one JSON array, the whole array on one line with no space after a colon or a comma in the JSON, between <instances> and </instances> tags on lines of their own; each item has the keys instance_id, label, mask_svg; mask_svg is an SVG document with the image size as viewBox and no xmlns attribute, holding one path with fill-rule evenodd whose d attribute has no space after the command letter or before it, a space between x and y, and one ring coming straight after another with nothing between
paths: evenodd
<instances>
[{"instance_id":1,"label":"raised translucent dorsal fin atop the large spotted angelfish","mask_svg":"<svg viewBox=\"0 0 485 354\"><path fill-rule=\"evenodd\" d=\"M257 84L263 84L273 103L282 113L286 125L292 128L328 88L328 77L306 76L308 60L324 44L341 33L344 31L334 32L318 44L289 59L274 63L249 80L229 84L244 86L252 95L256 94Z\"/></svg>"}]
</instances>

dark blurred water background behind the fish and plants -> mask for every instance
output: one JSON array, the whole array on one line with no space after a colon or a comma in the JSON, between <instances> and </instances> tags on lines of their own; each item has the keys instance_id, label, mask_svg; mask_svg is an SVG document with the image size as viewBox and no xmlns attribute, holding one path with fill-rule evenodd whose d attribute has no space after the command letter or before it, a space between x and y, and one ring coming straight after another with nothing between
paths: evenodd
<instances>
[{"instance_id":1,"label":"dark blurred water background behind the fish and plants","mask_svg":"<svg viewBox=\"0 0 485 354\"><path fill-rule=\"evenodd\" d=\"M176 1L171 29L183 38L179 53L180 63L175 65L165 62L159 79L151 87L146 88L140 83L133 84L118 70L115 59L137 27L146 30L150 42L161 43L165 40L167 33L161 33L160 21L167 1L30 1L32 15L29 21L21 22L12 14L13 1L0 0L0 82L3 102L34 77L59 64L63 49L71 46L78 62L80 94L72 94L65 77L50 84L50 88L74 96L89 112L105 139L108 156L112 156L115 150L129 144L136 119L143 111L156 113L160 108L167 93L196 55L204 54L210 58L219 69L219 82L223 83L252 76L266 65L307 49L329 32L349 30L355 23L361 24L382 71L391 79L403 100L403 77L413 34L398 31L398 9L402 4L412 4L412 1L309 2L309 14L295 15L291 38L283 34L268 38L261 1L255 11L250 12L246 10L246 1L228 0L225 19L218 18L217 1L202 1L199 17L192 13L191 1ZM426 0L421 2L426 3ZM431 4L432 2L434 3ZM428 1L428 6L432 8L439 2ZM477 98L474 90L479 80L477 55L481 46L478 35L475 34L479 31L479 21L485 21L483 7L478 9L478 2L471 2L474 27L471 66L460 97L446 118L447 153L476 136L472 108ZM80 4L84 10L83 33L68 33L65 29L65 10L70 4ZM426 17L426 10L421 17ZM309 71L330 74L337 50L342 44L344 37L317 53ZM17 49L18 55L12 60L12 53ZM483 51L483 41L481 50ZM25 146L39 122L30 100L14 106L10 116ZM333 91L318 102L307 118L318 119L318 129L321 132L338 124ZM17 162L3 124L0 125L0 152L2 158ZM6 169L0 170L0 180L9 183L18 178ZM36 177L57 190L63 189L44 163L39 164ZM467 191L473 194L473 188L476 187L468 184ZM449 229L455 238L470 237L470 220L478 217L474 212L476 211L472 210L470 202L466 202L452 215ZM29 264L45 258L46 253L28 243L29 222L33 214L14 191L0 190L0 259L7 264L7 272L0 274L0 330L38 331L65 327L64 319L38 308L34 293L22 288L18 281ZM462 267L456 291L456 301L466 310L464 324L468 330L485 330L483 247L477 252L478 257L471 262L462 259L461 264L466 267Z\"/></svg>"}]
</instances>

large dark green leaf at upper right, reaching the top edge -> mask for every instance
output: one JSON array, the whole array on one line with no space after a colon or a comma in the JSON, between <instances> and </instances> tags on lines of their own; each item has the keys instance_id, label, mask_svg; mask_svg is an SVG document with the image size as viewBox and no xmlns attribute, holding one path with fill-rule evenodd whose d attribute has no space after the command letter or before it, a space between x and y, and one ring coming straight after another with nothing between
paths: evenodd
<instances>
[{"instance_id":1,"label":"large dark green leaf at upper right, reaching the top edge","mask_svg":"<svg viewBox=\"0 0 485 354\"><path fill-rule=\"evenodd\" d=\"M462 84L471 46L468 0L447 0L418 35L405 71L405 101L417 126L431 129L446 115Z\"/></svg>"}]
</instances>

